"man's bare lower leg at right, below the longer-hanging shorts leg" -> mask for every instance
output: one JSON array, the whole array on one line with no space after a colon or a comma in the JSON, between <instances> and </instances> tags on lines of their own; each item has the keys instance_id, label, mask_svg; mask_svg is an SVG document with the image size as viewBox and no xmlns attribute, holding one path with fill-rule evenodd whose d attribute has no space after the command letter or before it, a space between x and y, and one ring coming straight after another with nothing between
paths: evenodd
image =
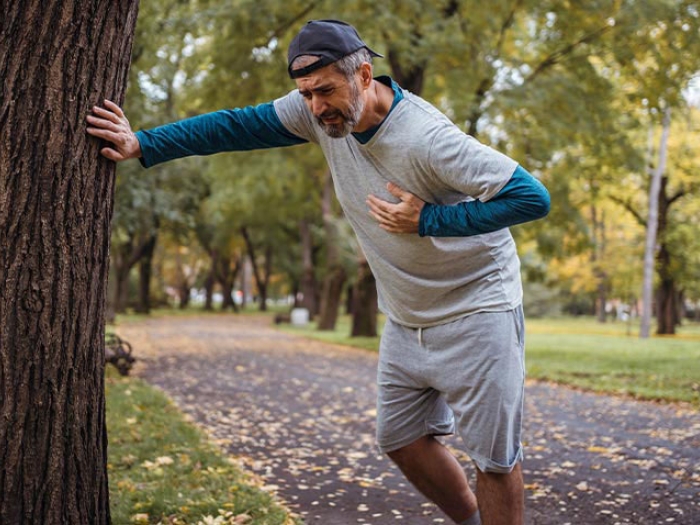
<instances>
[{"instance_id":1,"label":"man's bare lower leg at right, below the longer-hanging shorts leg","mask_svg":"<svg viewBox=\"0 0 700 525\"><path fill-rule=\"evenodd\" d=\"M522 525L525 489L520 463L509 474L477 469L476 493L484 525Z\"/></svg>"}]
</instances>

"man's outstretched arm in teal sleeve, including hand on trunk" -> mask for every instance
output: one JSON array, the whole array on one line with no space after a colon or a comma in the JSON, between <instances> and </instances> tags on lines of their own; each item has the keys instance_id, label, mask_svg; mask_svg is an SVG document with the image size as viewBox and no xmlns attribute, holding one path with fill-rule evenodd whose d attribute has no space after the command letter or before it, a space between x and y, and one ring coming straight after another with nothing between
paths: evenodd
<instances>
[{"instance_id":1,"label":"man's outstretched arm in teal sleeve, including hand on trunk","mask_svg":"<svg viewBox=\"0 0 700 525\"><path fill-rule=\"evenodd\" d=\"M114 144L102 154L115 161L140 158L144 167L190 155L211 155L292 146L307 142L290 133L272 102L243 109L207 113L148 131L134 133L121 109L105 101L88 116L88 133Z\"/></svg>"}]
</instances>

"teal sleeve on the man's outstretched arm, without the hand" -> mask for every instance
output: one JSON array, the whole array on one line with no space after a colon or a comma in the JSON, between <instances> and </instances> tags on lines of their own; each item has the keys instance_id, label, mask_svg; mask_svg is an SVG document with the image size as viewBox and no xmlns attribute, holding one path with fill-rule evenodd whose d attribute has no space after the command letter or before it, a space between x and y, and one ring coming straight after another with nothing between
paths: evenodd
<instances>
[{"instance_id":1,"label":"teal sleeve on the man's outstretched arm, without the hand","mask_svg":"<svg viewBox=\"0 0 700 525\"><path fill-rule=\"evenodd\" d=\"M276 148L307 142L282 125L272 102L188 118L139 131L136 138L141 146L140 161L146 168L190 155Z\"/></svg>"}]
</instances>

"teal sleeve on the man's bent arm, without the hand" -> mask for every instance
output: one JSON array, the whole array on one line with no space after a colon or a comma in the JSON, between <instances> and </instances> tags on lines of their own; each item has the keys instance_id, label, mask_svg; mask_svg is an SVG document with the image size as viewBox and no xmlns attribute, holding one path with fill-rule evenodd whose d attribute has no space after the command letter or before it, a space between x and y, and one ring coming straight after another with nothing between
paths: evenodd
<instances>
[{"instance_id":1,"label":"teal sleeve on the man's bent arm, without the hand","mask_svg":"<svg viewBox=\"0 0 700 525\"><path fill-rule=\"evenodd\" d=\"M544 185L517 166L506 185L490 200L455 205L426 203L421 210L421 237L466 237L541 219L549 213Z\"/></svg>"}]
</instances>

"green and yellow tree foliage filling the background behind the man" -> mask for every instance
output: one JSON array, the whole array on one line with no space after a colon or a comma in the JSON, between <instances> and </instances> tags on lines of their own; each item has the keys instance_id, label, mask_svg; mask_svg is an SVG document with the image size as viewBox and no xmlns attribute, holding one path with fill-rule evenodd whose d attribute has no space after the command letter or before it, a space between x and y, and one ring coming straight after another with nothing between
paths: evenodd
<instances>
[{"instance_id":1,"label":"green and yellow tree foliage filling the background behind the man","mask_svg":"<svg viewBox=\"0 0 700 525\"><path fill-rule=\"evenodd\" d=\"M519 243L537 243L545 265L580 269L575 279L545 269L545 284L575 294L577 281L593 276L610 293L635 295L643 235L610 201L646 208L650 118L669 104L683 108L682 89L700 70L697 2L153 0L141 8L127 114L136 127L150 127L286 94L294 88L287 45L312 18L355 24L386 56L376 60L377 74L405 82L542 179L552 195L549 218L514 233ZM680 249L697 238L690 182L697 151L687 144L670 168L688 204L674 211L669 242L679 247L676 273L692 295L700 288L689 271L696 251ZM173 246L199 238L220 253L241 253L245 225L274 246L276 271L294 280L300 220L312 224L316 262L324 261L325 169L312 146L180 160L149 172L120 167L115 240L165 227ZM608 233L624 235L603 239L592 207L604 212ZM349 237L342 244L352 253ZM586 261L594 259L591 273Z\"/></svg>"}]
</instances>

